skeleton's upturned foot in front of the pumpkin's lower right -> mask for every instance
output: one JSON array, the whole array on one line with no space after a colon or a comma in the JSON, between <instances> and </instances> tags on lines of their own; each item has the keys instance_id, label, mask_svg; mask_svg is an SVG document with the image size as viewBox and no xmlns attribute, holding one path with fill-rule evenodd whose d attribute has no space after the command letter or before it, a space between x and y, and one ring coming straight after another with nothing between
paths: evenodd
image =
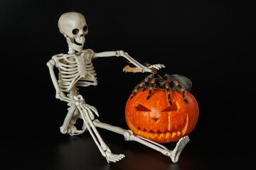
<instances>
[{"instance_id":1,"label":"skeleton's upturned foot in front of the pumpkin's lower right","mask_svg":"<svg viewBox=\"0 0 256 170\"><path fill-rule=\"evenodd\" d=\"M174 148L173 151L171 151L171 161L176 163L178 162L178 157L181 154L181 151L183 150L183 148L186 146L186 144L189 141L189 137L181 137L180 140L178 140L178 143L176 144L176 147Z\"/></svg>"}]
</instances>

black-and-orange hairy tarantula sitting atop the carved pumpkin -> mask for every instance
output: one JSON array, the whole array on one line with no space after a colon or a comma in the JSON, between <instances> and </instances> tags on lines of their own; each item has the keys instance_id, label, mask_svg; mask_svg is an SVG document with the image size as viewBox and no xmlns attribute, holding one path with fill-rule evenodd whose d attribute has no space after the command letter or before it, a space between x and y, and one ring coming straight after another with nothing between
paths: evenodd
<instances>
[{"instance_id":1,"label":"black-and-orange hairy tarantula sitting atop the carved pumpkin","mask_svg":"<svg viewBox=\"0 0 256 170\"><path fill-rule=\"evenodd\" d=\"M172 103L170 90L181 91L183 100L188 103L184 94L185 91L190 91L191 87L191 80L179 74L165 74L164 77L161 77L159 74L157 74L157 77L155 77L155 73L153 73L146 77L140 84L135 86L130 99L132 99L137 94L137 91L139 91L139 89L143 89L142 91L149 89L149 96L147 96L146 100L148 100L151 96L152 89L164 89L168 94L168 101L171 105Z\"/></svg>"}]
</instances>

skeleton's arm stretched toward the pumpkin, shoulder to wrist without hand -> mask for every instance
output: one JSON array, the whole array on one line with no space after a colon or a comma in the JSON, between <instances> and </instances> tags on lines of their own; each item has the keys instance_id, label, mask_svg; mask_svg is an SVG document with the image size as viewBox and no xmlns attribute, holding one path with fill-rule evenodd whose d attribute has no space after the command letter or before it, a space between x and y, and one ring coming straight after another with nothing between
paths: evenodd
<instances>
[{"instance_id":1,"label":"skeleton's arm stretched toward the pumpkin, shoulder to wrist without hand","mask_svg":"<svg viewBox=\"0 0 256 170\"><path fill-rule=\"evenodd\" d=\"M144 65L140 64L139 62L137 62L137 60L134 60L131 56L129 56L127 52L124 52L122 50L120 50L120 51L110 51L110 52L95 53L95 57L94 58L97 58L97 57L114 57L114 56L115 57L122 56L122 57L126 58L129 62L134 64L134 66L136 66L139 69L141 69L142 72L151 72L151 69L148 69Z\"/></svg>"}]
</instances>

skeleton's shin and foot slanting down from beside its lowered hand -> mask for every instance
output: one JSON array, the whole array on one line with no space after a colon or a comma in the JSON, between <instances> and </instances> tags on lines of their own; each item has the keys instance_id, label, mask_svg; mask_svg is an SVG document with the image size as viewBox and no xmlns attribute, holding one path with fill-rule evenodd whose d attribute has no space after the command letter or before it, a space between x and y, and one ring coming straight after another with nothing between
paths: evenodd
<instances>
[{"instance_id":1,"label":"skeleton's shin and foot slanting down from beside its lowered hand","mask_svg":"<svg viewBox=\"0 0 256 170\"><path fill-rule=\"evenodd\" d=\"M119 160L124 158L124 154L112 154L112 152L110 151L110 148L107 147L105 142L102 140L102 137L100 136L99 132L97 132L97 129L95 128L95 125L92 123L92 120L90 119L90 115L88 113L88 111L91 112L90 109L80 108L79 106L78 106L78 109L79 109L79 111L82 115L82 119L84 120L87 129L90 132L90 135L92 135L93 140L95 141L97 147L100 149L100 152L101 152L102 156L106 157L107 163L118 162ZM93 134L92 130L90 129L90 126L91 126L93 132L95 132L95 135L97 136L97 139L96 139L95 135ZM100 141L100 144L97 140Z\"/></svg>"}]
</instances>

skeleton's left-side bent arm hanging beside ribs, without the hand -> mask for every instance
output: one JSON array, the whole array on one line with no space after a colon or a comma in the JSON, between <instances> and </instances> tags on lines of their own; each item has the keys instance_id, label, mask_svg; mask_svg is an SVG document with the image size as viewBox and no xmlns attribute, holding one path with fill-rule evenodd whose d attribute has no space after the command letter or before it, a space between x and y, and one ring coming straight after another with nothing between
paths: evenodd
<instances>
[{"instance_id":1,"label":"skeleton's left-side bent arm hanging beside ribs, without the hand","mask_svg":"<svg viewBox=\"0 0 256 170\"><path fill-rule=\"evenodd\" d=\"M68 103L71 103L72 101L70 100L70 98L66 97L65 94L63 94L63 92L60 91L60 87L58 86L58 81L55 77L55 73L53 70L53 67L55 66L55 61L54 60L49 60L49 62L47 62L46 64L49 68L49 72L50 72L50 78L53 81L53 86L55 87L56 90L56 98L60 99L60 101L65 101Z\"/></svg>"}]
</instances>

